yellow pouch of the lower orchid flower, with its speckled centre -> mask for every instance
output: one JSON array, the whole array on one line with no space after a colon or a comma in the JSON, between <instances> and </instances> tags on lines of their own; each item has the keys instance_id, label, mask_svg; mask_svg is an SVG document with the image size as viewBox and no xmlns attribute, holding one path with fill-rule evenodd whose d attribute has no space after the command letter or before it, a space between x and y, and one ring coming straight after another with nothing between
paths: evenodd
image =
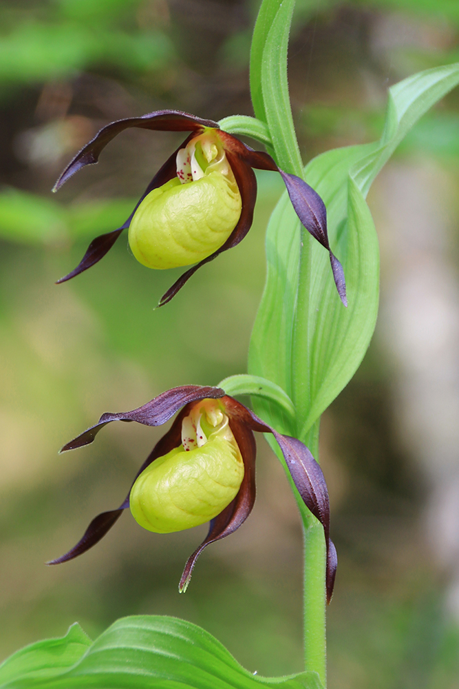
<instances>
[{"instance_id":1,"label":"yellow pouch of the lower orchid flower, with its speckled centre","mask_svg":"<svg viewBox=\"0 0 459 689\"><path fill-rule=\"evenodd\" d=\"M202 400L182 421L182 444L142 471L129 506L149 531L182 531L219 515L243 478L244 462L228 417L216 400Z\"/></svg>"}]
</instances>

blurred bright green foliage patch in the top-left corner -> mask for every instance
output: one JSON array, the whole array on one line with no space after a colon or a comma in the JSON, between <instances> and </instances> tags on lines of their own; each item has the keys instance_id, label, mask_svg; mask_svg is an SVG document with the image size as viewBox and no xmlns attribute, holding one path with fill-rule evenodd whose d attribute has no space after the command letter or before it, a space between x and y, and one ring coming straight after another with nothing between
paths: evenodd
<instances>
[{"instance_id":1,"label":"blurred bright green foliage patch in the top-left corner","mask_svg":"<svg viewBox=\"0 0 459 689\"><path fill-rule=\"evenodd\" d=\"M138 0L59 0L43 6L39 17L17 16L0 41L3 92L96 65L121 72L164 67L175 55L171 39L160 28L140 29L127 21L138 5ZM3 12L8 16L7 8Z\"/></svg>"}]
</instances>

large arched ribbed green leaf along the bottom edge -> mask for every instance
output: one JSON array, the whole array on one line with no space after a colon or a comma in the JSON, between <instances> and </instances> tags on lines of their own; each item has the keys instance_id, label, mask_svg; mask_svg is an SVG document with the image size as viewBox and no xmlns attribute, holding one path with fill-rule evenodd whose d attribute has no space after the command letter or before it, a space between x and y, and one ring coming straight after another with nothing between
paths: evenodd
<instances>
[{"instance_id":1,"label":"large arched ribbed green leaf along the bottom edge","mask_svg":"<svg viewBox=\"0 0 459 689\"><path fill-rule=\"evenodd\" d=\"M61 665L58 674L52 667L40 677L20 673L18 668L17 677L10 675L0 688L323 689L315 672L292 677L253 675L204 629L155 615L119 619L71 668Z\"/></svg>"}]
</instances>

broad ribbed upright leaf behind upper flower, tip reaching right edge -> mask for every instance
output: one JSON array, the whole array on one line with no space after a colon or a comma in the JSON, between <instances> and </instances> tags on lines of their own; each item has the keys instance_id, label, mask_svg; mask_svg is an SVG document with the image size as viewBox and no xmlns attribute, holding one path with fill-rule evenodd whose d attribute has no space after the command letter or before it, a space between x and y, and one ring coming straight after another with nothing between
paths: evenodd
<instances>
[{"instance_id":1,"label":"broad ribbed upright leaf behind upper flower, tip reaching right edge","mask_svg":"<svg viewBox=\"0 0 459 689\"><path fill-rule=\"evenodd\" d=\"M250 340L248 370L282 387L298 408L297 436L306 438L321 413L345 387L365 355L378 308L378 241L365 203L376 174L396 146L429 107L459 83L459 64L416 74L389 90L381 140L329 151L305 168L308 183L322 196L328 211L328 232L334 253L343 263L348 285L348 309L334 289L324 249L309 238L311 271L302 294L304 311L295 313L299 289L299 227L286 194L268 226L266 286ZM297 342L301 369L295 378L292 362L294 321L307 324L307 336ZM298 354L297 354L298 356ZM257 413L279 423L279 413L254 399ZM280 420L281 424L282 420ZM279 425L279 430L285 430Z\"/></svg>"}]
</instances>

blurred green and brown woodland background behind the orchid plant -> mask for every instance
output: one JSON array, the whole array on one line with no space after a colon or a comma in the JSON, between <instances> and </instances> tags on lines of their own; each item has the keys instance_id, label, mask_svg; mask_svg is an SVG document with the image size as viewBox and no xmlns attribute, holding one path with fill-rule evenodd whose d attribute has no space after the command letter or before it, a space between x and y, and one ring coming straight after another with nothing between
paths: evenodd
<instances>
[{"instance_id":1,"label":"blurred green and brown woodland background behind the orchid plant","mask_svg":"<svg viewBox=\"0 0 459 689\"><path fill-rule=\"evenodd\" d=\"M153 311L175 271L125 239L54 280L118 227L180 143L127 131L57 196L98 128L164 107L252 114L249 0L3 0L0 5L0 657L79 621L121 615L204 626L250 670L301 670L301 531L259 442L250 520L182 566L205 527L142 531L127 513L81 559L47 568L118 505L162 431L111 426L57 455L103 411L246 371L264 283L264 230L282 192L259 175L253 229ZM305 161L381 134L387 88L459 59L456 0L298 0L290 88ZM250 142L248 142L250 143ZM381 318L361 369L325 413L321 460L339 552L329 608L333 689L459 687L459 91L421 121L369 203L382 250Z\"/></svg>"}]
</instances>

